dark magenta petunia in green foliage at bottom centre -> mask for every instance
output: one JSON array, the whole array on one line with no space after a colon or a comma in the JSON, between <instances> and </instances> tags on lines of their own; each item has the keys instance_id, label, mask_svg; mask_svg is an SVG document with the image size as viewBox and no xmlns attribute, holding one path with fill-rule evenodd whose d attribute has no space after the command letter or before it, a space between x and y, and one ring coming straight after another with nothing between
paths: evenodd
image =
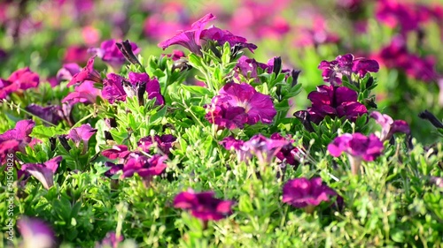
<instances>
[{"instance_id":1,"label":"dark magenta petunia in green foliage at bottom centre","mask_svg":"<svg viewBox=\"0 0 443 248\"><path fill-rule=\"evenodd\" d=\"M196 193L193 190L175 196L174 207L190 210L194 217L206 221L219 221L232 214L234 201L214 198L214 192Z\"/></svg>"}]
</instances>

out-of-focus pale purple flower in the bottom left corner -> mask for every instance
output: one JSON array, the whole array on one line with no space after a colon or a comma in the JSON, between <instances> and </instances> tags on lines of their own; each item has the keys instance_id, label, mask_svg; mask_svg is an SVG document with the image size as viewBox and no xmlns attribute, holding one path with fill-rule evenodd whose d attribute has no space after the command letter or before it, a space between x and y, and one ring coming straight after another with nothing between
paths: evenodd
<instances>
[{"instance_id":1,"label":"out-of-focus pale purple flower in the bottom left corner","mask_svg":"<svg viewBox=\"0 0 443 248\"><path fill-rule=\"evenodd\" d=\"M51 227L35 218L22 216L17 221L19 233L23 237L21 247L55 247L56 240L54 231Z\"/></svg>"}]
</instances>

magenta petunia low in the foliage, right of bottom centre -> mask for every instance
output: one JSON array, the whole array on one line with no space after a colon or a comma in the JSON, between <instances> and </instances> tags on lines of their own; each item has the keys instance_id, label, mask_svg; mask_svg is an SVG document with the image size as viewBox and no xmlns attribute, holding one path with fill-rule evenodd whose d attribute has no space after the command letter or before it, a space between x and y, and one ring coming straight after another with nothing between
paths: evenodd
<instances>
[{"instance_id":1,"label":"magenta petunia low in the foliage, right of bottom centre","mask_svg":"<svg viewBox=\"0 0 443 248\"><path fill-rule=\"evenodd\" d=\"M337 192L324 185L321 177L291 179L283 187L283 202L305 208L307 213L312 213L323 201L330 201L332 196L337 196Z\"/></svg>"}]
</instances>

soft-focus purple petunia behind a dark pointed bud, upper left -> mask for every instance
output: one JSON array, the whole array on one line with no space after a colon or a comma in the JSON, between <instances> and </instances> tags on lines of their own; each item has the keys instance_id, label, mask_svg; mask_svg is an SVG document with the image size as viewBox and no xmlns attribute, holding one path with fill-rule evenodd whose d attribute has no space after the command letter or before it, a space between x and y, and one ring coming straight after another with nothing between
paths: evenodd
<instances>
[{"instance_id":1,"label":"soft-focus purple petunia behind a dark pointed bud, upper left","mask_svg":"<svg viewBox=\"0 0 443 248\"><path fill-rule=\"evenodd\" d=\"M121 65L125 64L126 58L117 47L116 42L117 41L113 39L103 41L100 44L100 48L89 49L88 52L98 56L105 63L113 66L113 68L120 68ZM140 49L137 47L136 43L130 42L130 45L134 54L140 52Z\"/></svg>"}]
</instances>

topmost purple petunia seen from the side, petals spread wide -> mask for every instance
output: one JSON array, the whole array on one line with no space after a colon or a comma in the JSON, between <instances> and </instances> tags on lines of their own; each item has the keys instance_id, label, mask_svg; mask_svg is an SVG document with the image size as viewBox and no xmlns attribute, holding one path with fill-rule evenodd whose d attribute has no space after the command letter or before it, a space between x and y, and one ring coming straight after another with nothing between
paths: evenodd
<instances>
[{"instance_id":1,"label":"topmost purple petunia seen from the side, petals spread wide","mask_svg":"<svg viewBox=\"0 0 443 248\"><path fill-rule=\"evenodd\" d=\"M221 45L225 42L229 42L231 47L239 44L242 48L247 48L251 51L257 49L257 46L247 43L245 38L231 34L227 30L221 30L215 26L205 29L206 23L213 19L215 19L213 14L206 14L206 16L194 22L190 30L182 31L179 34L176 34L173 38L160 42L159 47L167 49L167 47L172 45L181 45L186 49L189 49L192 53L201 55L200 49L202 41L213 40L218 41Z\"/></svg>"}]
</instances>

